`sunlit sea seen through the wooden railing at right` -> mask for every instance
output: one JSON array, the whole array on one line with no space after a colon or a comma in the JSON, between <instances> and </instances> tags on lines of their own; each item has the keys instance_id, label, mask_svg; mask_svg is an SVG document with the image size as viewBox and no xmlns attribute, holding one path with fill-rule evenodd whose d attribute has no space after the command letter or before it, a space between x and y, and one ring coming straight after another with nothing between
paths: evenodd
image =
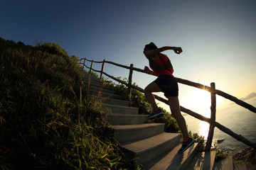
<instances>
[{"instance_id":1,"label":"sunlit sea seen through the wooden railing at right","mask_svg":"<svg viewBox=\"0 0 256 170\"><path fill-rule=\"evenodd\" d=\"M256 107L256 96L244 101ZM197 132L207 139L209 130L208 123L184 113L183 116L188 125L188 130L191 130L193 133ZM242 135L242 137L245 137L247 140L256 143L256 113L242 106L238 106L236 103L230 103L225 108L217 108L216 121L236 134ZM214 128L213 145L219 149L225 149L230 155L249 147L218 128Z\"/></svg>"}]
</instances>

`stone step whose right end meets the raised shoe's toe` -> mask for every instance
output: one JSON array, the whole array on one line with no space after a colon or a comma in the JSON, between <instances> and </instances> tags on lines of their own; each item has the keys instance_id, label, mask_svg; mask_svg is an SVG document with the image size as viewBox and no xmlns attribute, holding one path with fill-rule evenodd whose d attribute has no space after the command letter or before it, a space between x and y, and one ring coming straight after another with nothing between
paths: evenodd
<instances>
[{"instance_id":1,"label":"stone step whose right end meets the raised shoe's toe","mask_svg":"<svg viewBox=\"0 0 256 170\"><path fill-rule=\"evenodd\" d=\"M145 123L147 116L148 115L110 113L107 115L107 121L110 125L134 125Z\"/></svg>"}]
</instances>

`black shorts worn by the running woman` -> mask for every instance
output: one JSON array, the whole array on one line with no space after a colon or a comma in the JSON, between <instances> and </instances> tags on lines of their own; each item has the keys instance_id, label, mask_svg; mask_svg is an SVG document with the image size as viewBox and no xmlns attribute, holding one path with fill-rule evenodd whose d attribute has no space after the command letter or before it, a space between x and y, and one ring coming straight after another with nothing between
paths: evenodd
<instances>
[{"instance_id":1,"label":"black shorts worn by the running woman","mask_svg":"<svg viewBox=\"0 0 256 170\"><path fill-rule=\"evenodd\" d=\"M164 93L164 96L178 97L178 83L171 75L163 74L154 81Z\"/></svg>"}]
</instances>

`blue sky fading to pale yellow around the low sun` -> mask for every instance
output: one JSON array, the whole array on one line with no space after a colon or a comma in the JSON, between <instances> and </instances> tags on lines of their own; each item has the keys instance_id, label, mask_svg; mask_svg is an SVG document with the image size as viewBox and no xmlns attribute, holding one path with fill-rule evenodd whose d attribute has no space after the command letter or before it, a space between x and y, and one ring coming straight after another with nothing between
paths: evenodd
<instances>
[{"instance_id":1,"label":"blue sky fading to pale yellow around the low sun","mask_svg":"<svg viewBox=\"0 0 256 170\"><path fill-rule=\"evenodd\" d=\"M141 69L148 64L142 52L147 43L180 46L181 55L164 52L175 77L207 86L215 82L216 89L244 98L256 92L255 8L255 0L2 0L0 37L26 45L55 42L70 56L133 63ZM129 74L107 64L105 68L115 77ZM133 76L142 88L154 79ZM181 106L201 106L207 100L195 95L203 96L180 85Z\"/></svg>"}]
</instances>

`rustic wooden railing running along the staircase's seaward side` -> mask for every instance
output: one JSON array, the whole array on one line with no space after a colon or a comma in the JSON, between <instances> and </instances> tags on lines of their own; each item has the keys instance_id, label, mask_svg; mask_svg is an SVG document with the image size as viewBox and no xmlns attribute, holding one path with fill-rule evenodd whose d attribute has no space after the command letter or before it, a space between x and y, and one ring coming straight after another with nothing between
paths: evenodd
<instances>
[{"instance_id":1,"label":"rustic wooden railing running along the staircase's seaward side","mask_svg":"<svg viewBox=\"0 0 256 170\"><path fill-rule=\"evenodd\" d=\"M88 61L90 62L90 67L87 67L85 65L85 62ZM85 69L85 67L87 69L89 69L90 73L92 71L94 72L100 72L100 79L102 79L102 74L105 74L107 77L110 77L111 79L114 79L115 81L118 81L119 83L121 84L124 84L125 86L127 86L127 99L128 101L130 101L130 94L131 94L131 88L133 89L136 89L138 91L141 91L142 93L144 93L144 89L142 88L139 88L138 86L133 86L132 85L132 73L133 71L137 71L137 72L142 72L144 74L147 74L144 72L143 69L138 69L136 67L133 67L133 64L130 64L130 66L125 66L125 65L122 65L122 64L117 64L117 63L114 63L114 62L110 62L110 61L106 61L106 60L103 60L102 62L95 62L93 60L87 60L86 58L82 58L80 60L78 60L79 64L82 64L82 68ZM101 71L99 70L95 70L95 69L92 69L92 66L93 66L93 63L102 63L102 69ZM104 72L104 67L105 67L105 63L108 63L108 64L113 64L117 67L122 67L124 69L129 69L129 78L128 78L128 83L125 82L125 81L122 81L120 79L117 79L116 77L113 77L107 73ZM256 113L256 108L254 106L251 106L250 104L248 103L245 103L244 101L241 101L239 100L238 98L235 98L234 96L231 96L230 94L226 94L225 92L223 91L219 91L217 89L215 89L215 83L211 83L210 86L204 86L203 84L198 84L198 83L195 83L193 81L188 81L186 79L180 79L180 78L177 78L177 81L178 83L180 84L186 84L188 86L193 86L193 87L196 87L198 89L203 89L203 90L206 90L208 92L210 92L210 96L211 96L211 106L210 106L210 118L206 118L204 117L203 115L200 115L198 113L195 113L187 108L183 108L181 106L181 111L183 113L187 113L188 115L191 115L193 116L194 118L197 118L199 120L203 120L207 123L210 124L210 128L209 128L209 132L208 132L208 138L207 138L207 141L206 141L206 151L210 151L210 147L211 147L211 144L213 142L213 132L214 132L214 128L217 127L218 129L220 129L221 131L227 133L228 135L234 137L236 140L239 140L240 142L243 142L245 143L245 145L248 145L250 147L253 147L253 148L256 148L256 143L254 142L251 142L250 140L247 140L245 139L245 137L242 137L242 135L238 135L236 134L235 132L233 132L232 130L226 128L224 125L221 125L220 123L216 122L215 121L215 115L216 115L216 94L218 96L222 96L224 98L227 98L229 99L230 101L233 101L235 103L237 103L238 105L244 107L244 108L247 108L249 111L252 111L253 113ZM154 95L155 98L163 103L166 103L168 105L168 101L164 98L161 98L159 96L156 96Z\"/></svg>"}]
</instances>

